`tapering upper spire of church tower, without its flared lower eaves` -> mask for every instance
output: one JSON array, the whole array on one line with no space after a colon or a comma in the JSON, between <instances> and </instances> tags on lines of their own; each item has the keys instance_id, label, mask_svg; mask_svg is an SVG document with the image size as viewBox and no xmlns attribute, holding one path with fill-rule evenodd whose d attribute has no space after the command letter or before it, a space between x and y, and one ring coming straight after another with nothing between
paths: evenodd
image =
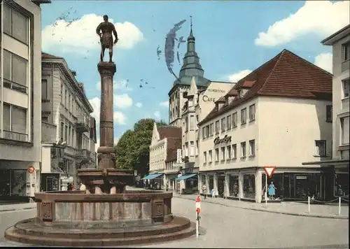
<instances>
[{"instance_id":1,"label":"tapering upper spire of church tower, without its flared lower eaves","mask_svg":"<svg viewBox=\"0 0 350 249\"><path fill-rule=\"evenodd\" d=\"M198 57L195 51L195 36L193 36L192 30L192 15L190 16L190 36L187 38L187 52L183 57L183 66L181 67L179 78L184 76L200 76L203 77L204 70L200 65L200 57Z\"/></svg>"}]
</instances>

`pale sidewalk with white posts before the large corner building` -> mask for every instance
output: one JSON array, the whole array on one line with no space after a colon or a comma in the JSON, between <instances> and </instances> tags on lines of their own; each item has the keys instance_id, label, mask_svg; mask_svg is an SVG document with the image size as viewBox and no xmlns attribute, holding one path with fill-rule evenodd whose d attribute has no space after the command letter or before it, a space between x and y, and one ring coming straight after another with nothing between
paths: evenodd
<instances>
[{"instance_id":1,"label":"pale sidewalk with white posts before the large corner building","mask_svg":"<svg viewBox=\"0 0 350 249\"><path fill-rule=\"evenodd\" d=\"M174 198L180 199L190 199L195 201L197 195L196 194L175 194ZM297 202L286 202L282 201L281 203L268 203L265 206L265 203L255 203L248 201L236 201L230 199L223 198L211 198L207 197L204 200L204 197L201 197L202 202L208 202L211 204L219 204L222 206L230 206L233 208L243 208L253 211L262 211L262 212L270 212L270 213L281 213L286 215L297 215L297 216L307 216L307 217L316 217L316 218L332 218L332 219L341 219L347 220L349 219L349 206L342 205L341 206L341 215L338 215L338 206L330 206L330 205L317 205L312 204L310 206L310 213L308 213L308 205L301 204Z\"/></svg>"}]
</instances>

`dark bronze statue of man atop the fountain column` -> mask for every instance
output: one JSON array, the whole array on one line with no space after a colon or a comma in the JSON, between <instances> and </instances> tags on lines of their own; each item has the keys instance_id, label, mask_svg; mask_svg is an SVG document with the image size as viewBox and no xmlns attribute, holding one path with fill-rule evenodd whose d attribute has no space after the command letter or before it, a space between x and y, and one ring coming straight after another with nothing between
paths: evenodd
<instances>
[{"instance_id":1,"label":"dark bronze statue of man atop the fountain column","mask_svg":"<svg viewBox=\"0 0 350 249\"><path fill-rule=\"evenodd\" d=\"M102 32L102 33L101 33ZM116 31L116 27L114 27L114 24L109 22L108 15L104 15L104 22L101 22L99 26L97 26L96 33L99 35L100 42L101 42L101 62L104 61L104 50L106 48L109 49L109 62L112 62L113 57L113 36L116 36L116 41L114 41L114 44L118 42L118 34Z\"/></svg>"}]
</instances>

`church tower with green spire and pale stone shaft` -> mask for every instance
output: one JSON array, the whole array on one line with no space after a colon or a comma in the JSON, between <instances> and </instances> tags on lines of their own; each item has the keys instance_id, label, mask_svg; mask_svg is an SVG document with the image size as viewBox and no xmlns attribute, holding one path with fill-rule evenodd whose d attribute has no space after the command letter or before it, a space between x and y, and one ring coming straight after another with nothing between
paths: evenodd
<instances>
[{"instance_id":1,"label":"church tower with green spire and pale stone shaft","mask_svg":"<svg viewBox=\"0 0 350 249\"><path fill-rule=\"evenodd\" d=\"M183 112L186 111L186 96L190 90L191 82L195 82L198 90L207 88L210 81L204 78L204 70L200 64L195 50L195 36L193 36L192 17L190 24L190 35L187 38L187 52L183 57L179 79L174 81L172 89L169 91L169 125L182 127L181 120Z\"/></svg>"}]
</instances>

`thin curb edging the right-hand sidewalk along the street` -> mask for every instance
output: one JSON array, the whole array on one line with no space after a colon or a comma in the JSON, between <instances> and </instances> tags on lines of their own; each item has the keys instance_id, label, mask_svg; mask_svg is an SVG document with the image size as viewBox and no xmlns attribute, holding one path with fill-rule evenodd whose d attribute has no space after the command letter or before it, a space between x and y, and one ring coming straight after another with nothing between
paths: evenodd
<instances>
[{"instance_id":1,"label":"thin curb edging the right-hand sidewalk along the street","mask_svg":"<svg viewBox=\"0 0 350 249\"><path fill-rule=\"evenodd\" d=\"M184 197L174 197L174 198L186 199L186 200L189 200L189 201L195 201L194 199L188 199L188 198L184 198ZM311 218L349 220L349 217L347 217L347 216L317 215L317 214L309 214L309 213L292 213L292 212L266 210L264 208L246 208L246 207L243 207L243 206L232 206L232 205L217 203L217 202L214 202L214 201L205 201L205 202L210 203L210 204L217 204L217 205L221 205L221 206L228 206L228 207L231 207L231 208L241 208L241 209L246 209L246 210L260 211L260 212L267 212L267 213L280 213L280 214L283 214L283 215L304 216L304 217L311 217Z\"/></svg>"}]
</instances>

